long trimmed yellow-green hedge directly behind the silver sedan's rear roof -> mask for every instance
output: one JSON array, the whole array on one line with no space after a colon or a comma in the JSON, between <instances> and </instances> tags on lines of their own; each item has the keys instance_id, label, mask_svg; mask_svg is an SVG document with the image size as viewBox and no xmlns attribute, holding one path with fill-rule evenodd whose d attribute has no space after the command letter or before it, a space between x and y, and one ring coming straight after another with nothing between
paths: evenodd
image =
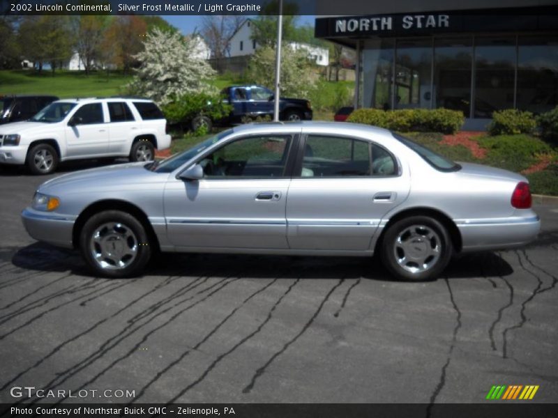
<instances>
[{"instance_id":1,"label":"long trimmed yellow-green hedge directly behind the silver sedan's rear roof","mask_svg":"<svg viewBox=\"0 0 558 418\"><path fill-rule=\"evenodd\" d=\"M448 109L400 109L393 111L356 109L347 118L347 121L385 127L398 132L420 131L452 134L463 125L465 116L461 111Z\"/></svg>"}]
</instances>

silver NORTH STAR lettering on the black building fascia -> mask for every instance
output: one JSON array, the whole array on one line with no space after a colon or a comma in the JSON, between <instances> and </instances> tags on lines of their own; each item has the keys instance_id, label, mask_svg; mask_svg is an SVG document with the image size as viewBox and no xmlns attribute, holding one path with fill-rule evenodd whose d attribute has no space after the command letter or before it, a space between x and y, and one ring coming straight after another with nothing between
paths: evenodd
<instances>
[{"instance_id":1,"label":"silver NORTH STAR lettering on the black building fascia","mask_svg":"<svg viewBox=\"0 0 558 418\"><path fill-rule=\"evenodd\" d=\"M398 29L441 29L449 28L449 15L403 15L397 20L393 16L350 17L335 20L335 34L374 33Z\"/></svg>"}]
</instances>

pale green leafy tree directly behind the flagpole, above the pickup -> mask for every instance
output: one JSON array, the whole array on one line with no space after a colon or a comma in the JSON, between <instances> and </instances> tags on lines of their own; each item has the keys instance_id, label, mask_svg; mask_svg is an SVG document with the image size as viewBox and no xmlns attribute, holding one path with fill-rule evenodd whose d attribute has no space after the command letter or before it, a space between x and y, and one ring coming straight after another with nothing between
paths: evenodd
<instances>
[{"instance_id":1,"label":"pale green leafy tree directly behind the flagpole, above the pickup","mask_svg":"<svg viewBox=\"0 0 558 418\"><path fill-rule=\"evenodd\" d=\"M275 82L276 49L264 46L255 52L248 64L248 79L256 84L273 88ZM282 95L306 98L312 90L315 79L312 77L312 64L305 50L295 51L287 43L281 47L281 79Z\"/></svg>"}]
</instances>

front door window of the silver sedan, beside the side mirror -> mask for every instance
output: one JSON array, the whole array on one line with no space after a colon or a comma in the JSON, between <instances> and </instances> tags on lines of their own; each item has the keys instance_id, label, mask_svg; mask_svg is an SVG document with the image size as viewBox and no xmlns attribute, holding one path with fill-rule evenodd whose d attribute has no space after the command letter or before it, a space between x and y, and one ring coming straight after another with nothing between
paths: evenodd
<instances>
[{"instance_id":1,"label":"front door window of the silver sedan, beside the side mirror","mask_svg":"<svg viewBox=\"0 0 558 418\"><path fill-rule=\"evenodd\" d=\"M264 135L237 139L207 155L199 164L206 178L280 178L292 138Z\"/></svg>"}]
</instances>

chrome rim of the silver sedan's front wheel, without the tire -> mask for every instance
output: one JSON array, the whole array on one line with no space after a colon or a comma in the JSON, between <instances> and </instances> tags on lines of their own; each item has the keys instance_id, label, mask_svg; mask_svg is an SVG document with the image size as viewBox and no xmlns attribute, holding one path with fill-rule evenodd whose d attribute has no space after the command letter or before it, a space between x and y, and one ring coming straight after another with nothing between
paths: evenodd
<instances>
[{"instance_id":1,"label":"chrome rim of the silver sedan's front wheel, without the tire","mask_svg":"<svg viewBox=\"0 0 558 418\"><path fill-rule=\"evenodd\" d=\"M89 241L93 260L105 270L127 268L137 256L138 245L135 233L120 222L100 225Z\"/></svg>"}]
</instances>

